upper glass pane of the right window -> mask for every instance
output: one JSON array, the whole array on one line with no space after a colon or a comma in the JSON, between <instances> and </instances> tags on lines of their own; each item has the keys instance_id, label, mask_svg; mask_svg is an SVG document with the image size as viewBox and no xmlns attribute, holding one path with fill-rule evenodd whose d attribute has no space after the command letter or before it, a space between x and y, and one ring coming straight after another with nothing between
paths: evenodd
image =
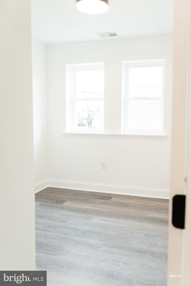
<instances>
[{"instance_id":1,"label":"upper glass pane of the right window","mask_svg":"<svg viewBox=\"0 0 191 286\"><path fill-rule=\"evenodd\" d=\"M162 66L132 67L129 69L129 97L161 97Z\"/></svg>"}]
</instances>

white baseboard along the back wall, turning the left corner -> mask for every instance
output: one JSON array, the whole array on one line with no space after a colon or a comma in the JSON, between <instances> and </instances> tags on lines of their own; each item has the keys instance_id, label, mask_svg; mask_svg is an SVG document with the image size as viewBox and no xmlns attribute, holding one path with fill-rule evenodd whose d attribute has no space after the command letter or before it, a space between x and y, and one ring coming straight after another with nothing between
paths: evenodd
<instances>
[{"instance_id":1,"label":"white baseboard along the back wall, turning the left corner","mask_svg":"<svg viewBox=\"0 0 191 286\"><path fill-rule=\"evenodd\" d=\"M64 181L64 180L53 180L48 179L36 184L36 192L46 187L55 187L63 189L77 189L82 191L91 192L104 192L119 195L132 195L138 197L149 197L149 198L161 198L169 199L170 191L163 189L147 189L140 187L130 186L118 186L118 185L106 185L86 182L75 182L75 181Z\"/></svg>"}]
</instances>

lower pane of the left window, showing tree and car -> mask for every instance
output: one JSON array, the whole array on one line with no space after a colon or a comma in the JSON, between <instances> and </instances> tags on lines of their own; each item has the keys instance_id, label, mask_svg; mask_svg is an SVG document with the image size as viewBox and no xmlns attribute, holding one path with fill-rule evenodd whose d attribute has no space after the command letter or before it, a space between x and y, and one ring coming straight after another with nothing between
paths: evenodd
<instances>
[{"instance_id":1,"label":"lower pane of the left window, showing tree and car","mask_svg":"<svg viewBox=\"0 0 191 286\"><path fill-rule=\"evenodd\" d=\"M99 101L76 101L76 127L80 130L87 128L103 128L104 103Z\"/></svg>"}]
</instances>

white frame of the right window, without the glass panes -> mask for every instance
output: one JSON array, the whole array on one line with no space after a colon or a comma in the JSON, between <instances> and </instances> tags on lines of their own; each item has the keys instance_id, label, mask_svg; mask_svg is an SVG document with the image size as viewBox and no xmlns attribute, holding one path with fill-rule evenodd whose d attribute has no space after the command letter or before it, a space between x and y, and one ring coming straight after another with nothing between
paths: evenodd
<instances>
[{"instance_id":1,"label":"white frame of the right window, without the glass panes","mask_svg":"<svg viewBox=\"0 0 191 286\"><path fill-rule=\"evenodd\" d=\"M161 66L163 68L162 96L161 97L129 97L129 69L132 67ZM121 107L121 133L125 134L164 134L164 77L165 59L157 60L130 60L122 62L122 107ZM161 129L160 130L131 130L128 129L129 100L161 100Z\"/></svg>"}]
</instances>

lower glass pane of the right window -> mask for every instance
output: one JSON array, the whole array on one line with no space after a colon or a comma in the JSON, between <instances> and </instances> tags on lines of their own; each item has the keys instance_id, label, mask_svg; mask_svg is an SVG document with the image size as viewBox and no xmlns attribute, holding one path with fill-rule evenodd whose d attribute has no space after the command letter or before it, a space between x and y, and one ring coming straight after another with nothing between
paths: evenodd
<instances>
[{"instance_id":1,"label":"lower glass pane of the right window","mask_svg":"<svg viewBox=\"0 0 191 286\"><path fill-rule=\"evenodd\" d=\"M129 100L128 129L160 130L161 101L160 100Z\"/></svg>"}]
</instances>

